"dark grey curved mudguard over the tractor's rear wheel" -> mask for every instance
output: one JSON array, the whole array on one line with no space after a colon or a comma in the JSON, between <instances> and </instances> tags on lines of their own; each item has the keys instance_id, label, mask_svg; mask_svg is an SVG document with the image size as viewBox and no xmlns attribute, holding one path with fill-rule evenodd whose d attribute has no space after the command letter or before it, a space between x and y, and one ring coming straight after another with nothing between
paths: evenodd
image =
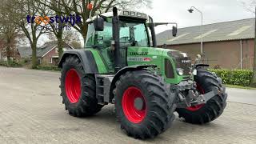
<instances>
[{"instance_id":1,"label":"dark grey curved mudguard over the tractor's rear wheel","mask_svg":"<svg viewBox=\"0 0 256 144\"><path fill-rule=\"evenodd\" d=\"M62 63L65 62L65 58L70 55L77 56L82 62L82 66L86 74L97 74L98 67L94 59L94 55L90 50L66 50L62 54L62 58L58 63L58 67L62 68Z\"/></svg>"}]
</instances>

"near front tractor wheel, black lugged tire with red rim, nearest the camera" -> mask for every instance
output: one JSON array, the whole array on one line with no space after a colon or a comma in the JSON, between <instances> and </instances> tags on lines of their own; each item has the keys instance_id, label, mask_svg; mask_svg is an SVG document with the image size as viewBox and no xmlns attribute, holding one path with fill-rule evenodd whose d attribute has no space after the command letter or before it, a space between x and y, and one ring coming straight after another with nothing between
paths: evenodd
<instances>
[{"instance_id":1,"label":"near front tractor wheel, black lugged tire with red rim, nearest the camera","mask_svg":"<svg viewBox=\"0 0 256 144\"><path fill-rule=\"evenodd\" d=\"M174 120L176 105L170 85L149 71L129 71L121 75L114 94L121 129L128 136L154 138Z\"/></svg>"}]
</instances>

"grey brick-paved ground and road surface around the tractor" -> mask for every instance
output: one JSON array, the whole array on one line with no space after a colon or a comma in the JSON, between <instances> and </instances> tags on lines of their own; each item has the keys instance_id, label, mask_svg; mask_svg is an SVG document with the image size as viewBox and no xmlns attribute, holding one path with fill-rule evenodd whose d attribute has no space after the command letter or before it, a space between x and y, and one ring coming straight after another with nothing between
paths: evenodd
<instances>
[{"instance_id":1,"label":"grey brick-paved ground and road surface around the tractor","mask_svg":"<svg viewBox=\"0 0 256 144\"><path fill-rule=\"evenodd\" d=\"M104 106L90 118L74 118L59 96L58 72L0 66L0 143L256 143L256 90L228 89L218 119L198 126L176 117L173 126L146 141L127 137ZM248 103L248 104L246 104Z\"/></svg>"}]
</instances>

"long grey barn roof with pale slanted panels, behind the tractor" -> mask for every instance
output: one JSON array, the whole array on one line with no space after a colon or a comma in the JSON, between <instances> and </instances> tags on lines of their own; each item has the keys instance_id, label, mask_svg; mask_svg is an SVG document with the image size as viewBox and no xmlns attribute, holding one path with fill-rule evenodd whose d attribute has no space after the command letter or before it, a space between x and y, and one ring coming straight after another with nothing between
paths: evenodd
<instances>
[{"instance_id":1,"label":"long grey barn roof with pale slanted panels, behind the tractor","mask_svg":"<svg viewBox=\"0 0 256 144\"><path fill-rule=\"evenodd\" d=\"M218 22L202 26L191 26L178 29L176 37L171 30L156 35L158 46L177 45L186 43L217 42L254 38L255 18L247 18L230 22Z\"/></svg>"}]
</instances>

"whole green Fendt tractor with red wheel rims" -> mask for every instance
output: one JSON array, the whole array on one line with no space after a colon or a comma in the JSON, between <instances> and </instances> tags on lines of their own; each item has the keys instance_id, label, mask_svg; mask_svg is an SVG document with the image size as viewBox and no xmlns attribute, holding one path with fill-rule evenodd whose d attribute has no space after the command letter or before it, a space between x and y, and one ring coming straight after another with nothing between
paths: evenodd
<instances>
[{"instance_id":1,"label":"whole green Fendt tractor with red wheel rims","mask_svg":"<svg viewBox=\"0 0 256 144\"><path fill-rule=\"evenodd\" d=\"M175 111L193 124L222 114L226 89L200 63L200 54L191 64L185 53L157 48L154 27L169 22L115 7L86 22L85 49L66 50L59 62L62 102L70 115L90 116L112 103L121 129L143 139L162 134Z\"/></svg>"}]
</instances>

